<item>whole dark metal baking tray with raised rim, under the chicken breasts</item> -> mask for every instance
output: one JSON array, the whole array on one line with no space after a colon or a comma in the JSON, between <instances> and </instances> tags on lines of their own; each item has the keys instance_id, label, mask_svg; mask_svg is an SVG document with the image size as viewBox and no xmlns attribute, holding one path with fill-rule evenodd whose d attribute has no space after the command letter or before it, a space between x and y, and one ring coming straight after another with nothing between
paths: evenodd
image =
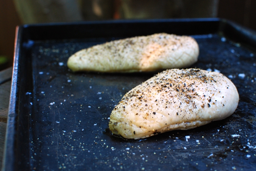
<instances>
[{"instance_id":1,"label":"whole dark metal baking tray with raised rim, under the chicken breasts","mask_svg":"<svg viewBox=\"0 0 256 171\"><path fill-rule=\"evenodd\" d=\"M108 130L114 105L155 73L72 73L82 48L153 33L193 36L191 67L236 85L234 114L140 141ZM17 28L3 170L256 170L256 34L223 19L118 20Z\"/></svg>"}]
</instances>

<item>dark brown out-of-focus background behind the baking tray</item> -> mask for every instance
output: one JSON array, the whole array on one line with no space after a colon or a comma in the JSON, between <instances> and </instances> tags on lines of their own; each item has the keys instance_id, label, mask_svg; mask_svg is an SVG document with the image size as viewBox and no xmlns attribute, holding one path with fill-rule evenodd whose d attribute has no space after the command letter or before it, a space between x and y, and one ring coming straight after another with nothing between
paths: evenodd
<instances>
[{"instance_id":1,"label":"dark brown out-of-focus background behind the baking tray","mask_svg":"<svg viewBox=\"0 0 256 171\"><path fill-rule=\"evenodd\" d=\"M13 65L22 24L219 17L256 30L255 9L256 0L0 0L0 70Z\"/></svg>"}]
</instances>

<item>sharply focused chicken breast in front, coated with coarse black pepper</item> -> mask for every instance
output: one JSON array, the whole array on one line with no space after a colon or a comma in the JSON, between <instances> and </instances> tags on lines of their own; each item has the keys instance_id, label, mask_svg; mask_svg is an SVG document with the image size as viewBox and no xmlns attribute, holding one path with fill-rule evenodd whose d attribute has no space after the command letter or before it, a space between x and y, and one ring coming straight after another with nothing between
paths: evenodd
<instances>
[{"instance_id":1,"label":"sharply focused chicken breast in front, coated with coarse black pepper","mask_svg":"<svg viewBox=\"0 0 256 171\"><path fill-rule=\"evenodd\" d=\"M166 70L122 97L110 115L109 128L127 139L188 130L229 117L238 102L236 87L221 73Z\"/></svg>"}]
</instances>

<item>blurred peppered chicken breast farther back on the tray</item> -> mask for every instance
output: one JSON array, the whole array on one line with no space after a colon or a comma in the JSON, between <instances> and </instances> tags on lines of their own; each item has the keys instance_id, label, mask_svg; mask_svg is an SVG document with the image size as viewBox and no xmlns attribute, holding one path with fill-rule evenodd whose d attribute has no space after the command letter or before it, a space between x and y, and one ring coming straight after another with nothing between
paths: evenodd
<instances>
[{"instance_id":1,"label":"blurred peppered chicken breast farther back on the tray","mask_svg":"<svg viewBox=\"0 0 256 171\"><path fill-rule=\"evenodd\" d=\"M194 38L159 33L110 41L69 57L72 71L138 72L183 68L196 63L199 47Z\"/></svg>"}]
</instances>

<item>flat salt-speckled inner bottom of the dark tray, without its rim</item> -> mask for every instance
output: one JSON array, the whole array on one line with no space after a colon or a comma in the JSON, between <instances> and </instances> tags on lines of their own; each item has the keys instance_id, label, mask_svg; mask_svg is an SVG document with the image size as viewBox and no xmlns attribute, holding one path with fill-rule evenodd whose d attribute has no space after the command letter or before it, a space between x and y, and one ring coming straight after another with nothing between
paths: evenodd
<instances>
[{"instance_id":1,"label":"flat salt-speckled inner bottom of the dark tray, without its rim","mask_svg":"<svg viewBox=\"0 0 256 171\"><path fill-rule=\"evenodd\" d=\"M191 67L229 77L239 91L238 108L225 120L140 141L111 135L109 115L127 91L154 73L72 73L66 66L76 51L122 37L34 41L17 169L255 170L256 51L218 33L192 36L200 56Z\"/></svg>"}]
</instances>

